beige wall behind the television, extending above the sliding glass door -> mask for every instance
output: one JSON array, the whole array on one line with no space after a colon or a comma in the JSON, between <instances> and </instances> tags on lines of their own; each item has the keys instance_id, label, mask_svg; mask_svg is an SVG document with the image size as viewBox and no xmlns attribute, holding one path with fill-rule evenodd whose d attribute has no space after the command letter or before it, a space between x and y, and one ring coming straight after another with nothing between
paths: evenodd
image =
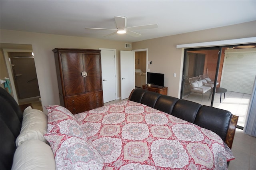
<instances>
[{"instance_id":1,"label":"beige wall behind the television, extending above the sliding glass door","mask_svg":"<svg viewBox=\"0 0 256 170\"><path fill-rule=\"evenodd\" d=\"M256 37L256 21L132 43L132 49L148 48L150 72L164 73L168 95L180 98L183 54L176 45ZM176 73L176 77L173 77Z\"/></svg>"}]
</instances>

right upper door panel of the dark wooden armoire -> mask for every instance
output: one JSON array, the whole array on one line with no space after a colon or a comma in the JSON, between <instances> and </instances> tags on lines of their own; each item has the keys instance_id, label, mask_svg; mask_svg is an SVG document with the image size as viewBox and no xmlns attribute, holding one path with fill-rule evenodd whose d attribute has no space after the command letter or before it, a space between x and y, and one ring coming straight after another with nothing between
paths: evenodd
<instances>
[{"instance_id":1,"label":"right upper door panel of the dark wooden armoire","mask_svg":"<svg viewBox=\"0 0 256 170\"><path fill-rule=\"evenodd\" d=\"M100 69L100 55L84 55L84 71L87 72L85 77L86 91L102 89Z\"/></svg>"}]
</instances>

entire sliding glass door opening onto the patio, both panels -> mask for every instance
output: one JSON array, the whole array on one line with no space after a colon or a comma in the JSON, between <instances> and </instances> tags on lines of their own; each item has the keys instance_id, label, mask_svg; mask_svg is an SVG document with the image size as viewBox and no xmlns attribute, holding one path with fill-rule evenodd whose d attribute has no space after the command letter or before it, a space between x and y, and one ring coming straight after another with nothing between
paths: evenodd
<instances>
[{"instance_id":1,"label":"entire sliding glass door opening onto the patio, both panels","mask_svg":"<svg viewBox=\"0 0 256 170\"><path fill-rule=\"evenodd\" d=\"M180 98L228 110L239 116L238 128L242 129L256 77L255 65L255 43L185 49ZM197 80L201 79L207 79L213 86L200 87L202 84ZM193 90L204 88L203 92Z\"/></svg>"}]
</instances>

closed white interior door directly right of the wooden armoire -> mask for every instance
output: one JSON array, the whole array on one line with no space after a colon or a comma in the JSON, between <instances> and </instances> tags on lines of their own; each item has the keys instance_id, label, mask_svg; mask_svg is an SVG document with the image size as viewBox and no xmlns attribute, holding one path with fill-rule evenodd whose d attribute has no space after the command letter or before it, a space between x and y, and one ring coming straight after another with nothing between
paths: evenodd
<instances>
[{"instance_id":1,"label":"closed white interior door directly right of the wooden armoire","mask_svg":"<svg viewBox=\"0 0 256 170\"><path fill-rule=\"evenodd\" d=\"M103 103L116 100L115 50L101 50Z\"/></svg>"}]
</instances>

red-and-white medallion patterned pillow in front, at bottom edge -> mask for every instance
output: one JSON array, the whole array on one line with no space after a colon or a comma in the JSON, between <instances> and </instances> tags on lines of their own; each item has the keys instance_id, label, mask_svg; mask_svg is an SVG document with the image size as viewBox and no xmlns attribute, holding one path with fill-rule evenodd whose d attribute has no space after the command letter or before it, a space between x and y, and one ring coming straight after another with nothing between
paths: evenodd
<instances>
[{"instance_id":1,"label":"red-and-white medallion patterned pillow in front, at bottom edge","mask_svg":"<svg viewBox=\"0 0 256 170\"><path fill-rule=\"evenodd\" d=\"M101 170L104 160L99 152L82 138L65 134L45 134L54 152L56 170Z\"/></svg>"}]
</instances>

